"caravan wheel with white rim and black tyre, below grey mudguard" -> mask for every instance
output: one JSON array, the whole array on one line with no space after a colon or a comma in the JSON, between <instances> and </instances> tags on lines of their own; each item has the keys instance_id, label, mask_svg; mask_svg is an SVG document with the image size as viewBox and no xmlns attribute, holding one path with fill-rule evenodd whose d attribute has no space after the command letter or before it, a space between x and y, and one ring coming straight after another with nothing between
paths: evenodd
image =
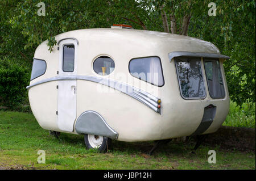
<instances>
[{"instance_id":1,"label":"caravan wheel with white rim and black tyre, below grey mudguard","mask_svg":"<svg viewBox=\"0 0 256 181\"><path fill-rule=\"evenodd\" d=\"M112 140L105 136L85 134L84 142L88 149L98 149L99 151L107 151L110 149Z\"/></svg>"}]
</instances>

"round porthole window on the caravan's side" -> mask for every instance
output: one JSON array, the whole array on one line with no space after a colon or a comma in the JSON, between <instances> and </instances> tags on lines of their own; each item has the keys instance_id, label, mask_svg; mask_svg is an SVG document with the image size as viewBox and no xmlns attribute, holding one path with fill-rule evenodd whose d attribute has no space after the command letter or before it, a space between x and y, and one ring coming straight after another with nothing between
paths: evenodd
<instances>
[{"instance_id":1,"label":"round porthole window on the caravan's side","mask_svg":"<svg viewBox=\"0 0 256 181\"><path fill-rule=\"evenodd\" d=\"M114 71L115 63L112 58L108 56L101 56L96 58L93 62L93 70L99 75L109 75Z\"/></svg>"}]
</instances>

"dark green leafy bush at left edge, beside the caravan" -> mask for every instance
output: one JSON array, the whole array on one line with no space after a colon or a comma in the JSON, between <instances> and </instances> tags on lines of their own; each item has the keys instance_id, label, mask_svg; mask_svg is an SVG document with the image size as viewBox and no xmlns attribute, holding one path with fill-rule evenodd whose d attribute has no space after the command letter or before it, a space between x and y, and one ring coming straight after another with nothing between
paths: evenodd
<instances>
[{"instance_id":1,"label":"dark green leafy bush at left edge, beside the caravan","mask_svg":"<svg viewBox=\"0 0 256 181\"><path fill-rule=\"evenodd\" d=\"M30 71L10 60L0 60L0 106L14 107L27 100Z\"/></svg>"}]
</instances>

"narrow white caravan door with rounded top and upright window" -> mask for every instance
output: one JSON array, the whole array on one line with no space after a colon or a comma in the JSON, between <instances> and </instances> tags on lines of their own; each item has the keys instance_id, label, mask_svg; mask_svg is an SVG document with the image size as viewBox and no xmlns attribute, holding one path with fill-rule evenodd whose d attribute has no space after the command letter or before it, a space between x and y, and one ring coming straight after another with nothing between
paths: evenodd
<instances>
[{"instance_id":1,"label":"narrow white caravan door with rounded top and upright window","mask_svg":"<svg viewBox=\"0 0 256 181\"><path fill-rule=\"evenodd\" d=\"M66 39L59 44L59 77L67 79L58 81L58 121L62 131L73 132L76 120L76 79L77 74L77 42Z\"/></svg>"}]
</instances>

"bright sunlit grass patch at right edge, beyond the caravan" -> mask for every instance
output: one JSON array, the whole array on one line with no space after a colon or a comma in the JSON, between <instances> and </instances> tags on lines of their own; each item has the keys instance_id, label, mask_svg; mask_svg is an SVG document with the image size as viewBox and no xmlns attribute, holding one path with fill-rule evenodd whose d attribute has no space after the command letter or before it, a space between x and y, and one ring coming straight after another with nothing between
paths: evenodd
<instances>
[{"instance_id":1,"label":"bright sunlit grass patch at right edge, beyond the caravan","mask_svg":"<svg viewBox=\"0 0 256 181\"><path fill-rule=\"evenodd\" d=\"M255 103L243 103L240 107L230 102L229 114L222 125L255 128Z\"/></svg>"}]
</instances>

